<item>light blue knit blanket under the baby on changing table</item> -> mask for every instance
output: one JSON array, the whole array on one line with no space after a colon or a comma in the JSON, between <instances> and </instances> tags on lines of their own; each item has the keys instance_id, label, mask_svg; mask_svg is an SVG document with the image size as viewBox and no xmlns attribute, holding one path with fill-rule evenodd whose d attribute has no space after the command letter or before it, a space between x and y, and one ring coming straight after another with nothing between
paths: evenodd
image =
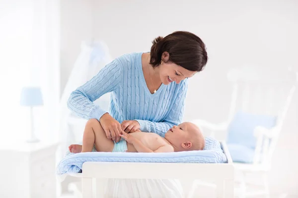
<instances>
[{"instance_id":1,"label":"light blue knit blanket under the baby on changing table","mask_svg":"<svg viewBox=\"0 0 298 198\"><path fill-rule=\"evenodd\" d=\"M204 150L166 153L141 152L83 152L70 153L59 162L56 174L81 172L86 161L103 162L165 162L165 163L226 163L226 156L220 143L213 138L205 138Z\"/></svg>"}]
</instances>

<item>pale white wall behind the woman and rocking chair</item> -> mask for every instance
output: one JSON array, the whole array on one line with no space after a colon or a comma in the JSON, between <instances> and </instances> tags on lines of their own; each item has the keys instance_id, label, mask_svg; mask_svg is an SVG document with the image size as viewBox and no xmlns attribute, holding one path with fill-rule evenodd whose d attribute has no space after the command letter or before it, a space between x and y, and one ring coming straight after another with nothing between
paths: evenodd
<instances>
[{"instance_id":1,"label":"pale white wall behind the woman and rocking chair","mask_svg":"<svg viewBox=\"0 0 298 198\"><path fill-rule=\"evenodd\" d=\"M63 0L61 90L83 39L104 40L117 57L149 51L155 37L186 30L205 42L209 62L190 80L185 119L223 121L230 95L228 69L246 63L298 69L297 10L296 0ZM297 111L293 103L274 156L272 192L298 194Z\"/></svg>"}]
</instances>

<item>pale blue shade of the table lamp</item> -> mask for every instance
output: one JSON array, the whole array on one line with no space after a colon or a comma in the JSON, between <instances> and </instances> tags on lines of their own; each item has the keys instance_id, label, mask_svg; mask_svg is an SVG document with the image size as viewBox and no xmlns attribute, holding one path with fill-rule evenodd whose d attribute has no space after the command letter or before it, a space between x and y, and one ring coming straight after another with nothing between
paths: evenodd
<instances>
[{"instance_id":1,"label":"pale blue shade of the table lamp","mask_svg":"<svg viewBox=\"0 0 298 198\"><path fill-rule=\"evenodd\" d=\"M21 91L21 106L43 105L41 89L39 87L24 87Z\"/></svg>"}]
</instances>

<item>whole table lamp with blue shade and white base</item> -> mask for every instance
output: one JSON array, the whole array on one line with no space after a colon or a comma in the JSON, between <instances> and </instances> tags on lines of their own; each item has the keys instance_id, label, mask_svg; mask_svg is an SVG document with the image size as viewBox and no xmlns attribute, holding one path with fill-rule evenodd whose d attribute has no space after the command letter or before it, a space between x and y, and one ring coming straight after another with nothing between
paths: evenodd
<instances>
[{"instance_id":1,"label":"whole table lamp with blue shade and white base","mask_svg":"<svg viewBox=\"0 0 298 198\"><path fill-rule=\"evenodd\" d=\"M21 91L20 105L30 107L31 134L27 142L39 142L34 133L33 107L43 105L41 89L39 87L24 87Z\"/></svg>"}]
</instances>

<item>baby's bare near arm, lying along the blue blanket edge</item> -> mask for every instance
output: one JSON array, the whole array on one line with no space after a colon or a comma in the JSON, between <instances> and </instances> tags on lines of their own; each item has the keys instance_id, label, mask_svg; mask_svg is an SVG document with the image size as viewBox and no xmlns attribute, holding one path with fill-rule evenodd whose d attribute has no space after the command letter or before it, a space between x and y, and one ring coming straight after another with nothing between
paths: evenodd
<instances>
[{"instance_id":1,"label":"baby's bare near arm, lying along the blue blanket edge","mask_svg":"<svg viewBox=\"0 0 298 198\"><path fill-rule=\"evenodd\" d=\"M162 145L162 144L160 144L160 147L157 148L156 150L151 150L134 136L131 136L125 132L123 132L123 135L120 135L120 136L124 138L128 143L132 144L138 152L173 152L174 151L174 149L170 145Z\"/></svg>"}]
</instances>

